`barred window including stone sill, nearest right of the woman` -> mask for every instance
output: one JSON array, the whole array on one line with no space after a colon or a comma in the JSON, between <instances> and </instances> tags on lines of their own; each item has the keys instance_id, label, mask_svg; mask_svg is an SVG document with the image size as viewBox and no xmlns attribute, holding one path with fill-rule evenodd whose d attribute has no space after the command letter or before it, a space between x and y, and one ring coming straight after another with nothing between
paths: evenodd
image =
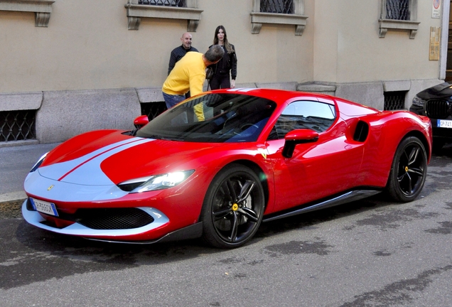
<instances>
[{"instance_id":1,"label":"barred window including stone sill, nearest right of the woman","mask_svg":"<svg viewBox=\"0 0 452 307\"><path fill-rule=\"evenodd\" d=\"M295 35L303 35L308 16L304 14L304 0L253 0L251 33L259 34L262 24L294 25Z\"/></svg>"}]
</instances>

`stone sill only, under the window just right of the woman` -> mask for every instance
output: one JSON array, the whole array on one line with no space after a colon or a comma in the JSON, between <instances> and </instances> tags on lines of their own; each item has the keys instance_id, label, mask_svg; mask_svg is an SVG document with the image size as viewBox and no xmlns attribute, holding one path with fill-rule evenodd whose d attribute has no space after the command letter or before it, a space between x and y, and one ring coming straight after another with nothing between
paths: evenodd
<instances>
[{"instance_id":1,"label":"stone sill only, under the window just right of the woman","mask_svg":"<svg viewBox=\"0 0 452 307\"><path fill-rule=\"evenodd\" d=\"M259 34L262 28L262 23L272 24L290 24L295 25L295 35L303 35L306 27L306 19L308 16L294 15L294 14L274 14L274 13L251 13L251 33Z\"/></svg>"}]
</instances>

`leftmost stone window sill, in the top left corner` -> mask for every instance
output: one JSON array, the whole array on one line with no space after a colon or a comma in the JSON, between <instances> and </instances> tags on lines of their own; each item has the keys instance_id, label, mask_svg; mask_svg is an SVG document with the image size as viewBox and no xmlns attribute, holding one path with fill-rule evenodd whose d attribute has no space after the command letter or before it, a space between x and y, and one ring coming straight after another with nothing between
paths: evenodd
<instances>
[{"instance_id":1,"label":"leftmost stone window sill, in the top left corner","mask_svg":"<svg viewBox=\"0 0 452 307\"><path fill-rule=\"evenodd\" d=\"M36 27L48 27L54 0L0 0L0 11L26 11L35 14Z\"/></svg>"}]
</instances>

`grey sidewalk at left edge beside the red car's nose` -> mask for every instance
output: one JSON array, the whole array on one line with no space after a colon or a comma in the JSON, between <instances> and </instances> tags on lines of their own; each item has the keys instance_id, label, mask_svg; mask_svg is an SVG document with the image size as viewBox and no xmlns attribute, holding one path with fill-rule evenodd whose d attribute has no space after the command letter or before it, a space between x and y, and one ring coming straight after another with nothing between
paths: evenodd
<instances>
[{"instance_id":1,"label":"grey sidewalk at left edge beside the red car's nose","mask_svg":"<svg viewBox=\"0 0 452 307\"><path fill-rule=\"evenodd\" d=\"M26 199L23 181L28 172L43 154L59 144L1 146L0 143L0 213L17 211L18 205Z\"/></svg>"}]
</instances>

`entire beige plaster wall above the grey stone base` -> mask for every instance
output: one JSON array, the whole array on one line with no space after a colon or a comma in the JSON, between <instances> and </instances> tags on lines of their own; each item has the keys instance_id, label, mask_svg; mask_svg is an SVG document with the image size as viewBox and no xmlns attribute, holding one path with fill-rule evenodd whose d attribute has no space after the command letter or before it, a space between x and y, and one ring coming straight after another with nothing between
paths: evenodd
<instances>
[{"instance_id":1,"label":"entire beige plaster wall above the grey stone base","mask_svg":"<svg viewBox=\"0 0 452 307\"><path fill-rule=\"evenodd\" d=\"M141 18L127 30L125 0L55 1L48 28L34 14L0 11L0 92L161 87L185 20ZM237 49L237 83L373 82L437 78L429 61L431 1L418 1L421 22L378 36L380 1L306 0L303 36L294 26L264 24L251 33L252 0L199 0L193 45L201 52L222 24Z\"/></svg>"}]
</instances>

